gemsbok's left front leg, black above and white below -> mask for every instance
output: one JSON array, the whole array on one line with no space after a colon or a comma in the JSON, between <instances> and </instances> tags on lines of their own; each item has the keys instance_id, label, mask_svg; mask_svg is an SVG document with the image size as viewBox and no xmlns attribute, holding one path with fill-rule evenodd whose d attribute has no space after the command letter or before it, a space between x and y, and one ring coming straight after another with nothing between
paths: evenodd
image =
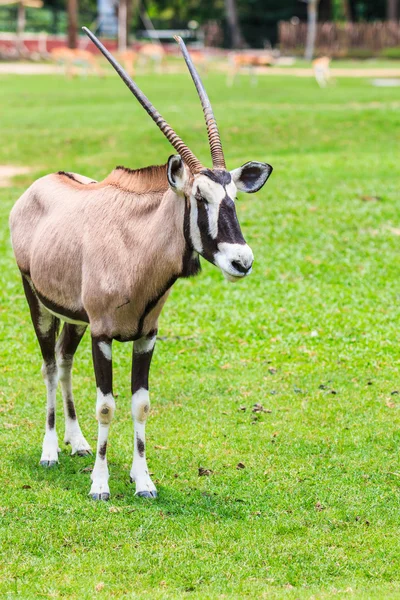
<instances>
[{"instance_id":1,"label":"gemsbok's left front leg, black above and white below","mask_svg":"<svg viewBox=\"0 0 400 600\"><path fill-rule=\"evenodd\" d=\"M108 500L107 439L110 423L115 412L112 393L112 340L104 336L92 336L94 373L97 385L96 419L99 423L96 462L92 472L92 487L89 494L93 500Z\"/></svg>"}]
</instances>

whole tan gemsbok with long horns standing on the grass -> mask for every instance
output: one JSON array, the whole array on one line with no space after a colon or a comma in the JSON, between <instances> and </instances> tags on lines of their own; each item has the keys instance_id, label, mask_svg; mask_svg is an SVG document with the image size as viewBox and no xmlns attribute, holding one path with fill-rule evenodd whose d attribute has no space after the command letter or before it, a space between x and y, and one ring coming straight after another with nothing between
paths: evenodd
<instances>
[{"instance_id":1,"label":"whole tan gemsbok with long horns standing on the grass","mask_svg":"<svg viewBox=\"0 0 400 600\"><path fill-rule=\"evenodd\" d=\"M144 169L117 167L104 181L59 171L35 181L12 209L12 245L43 355L46 430L40 464L58 462L56 388L61 382L65 439L72 454L91 452L72 393L74 353L90 326L97 386L98 441L89 494L108 500L107 438L115 412L113 340L133 341L130 471L138 496L156 497L145 456L148 377L160 312L179 277L200 271L199 255L229 281L251 272L253 253L235 210L236 191L256 192L272 167L248 162L228 171L211 104L185 44L177 41L205 115L212 168L205 168L99 40L87 35L158 125L177 154ZM57 339L60 319L64 326Z\"/></svg>"}]
</instances>

